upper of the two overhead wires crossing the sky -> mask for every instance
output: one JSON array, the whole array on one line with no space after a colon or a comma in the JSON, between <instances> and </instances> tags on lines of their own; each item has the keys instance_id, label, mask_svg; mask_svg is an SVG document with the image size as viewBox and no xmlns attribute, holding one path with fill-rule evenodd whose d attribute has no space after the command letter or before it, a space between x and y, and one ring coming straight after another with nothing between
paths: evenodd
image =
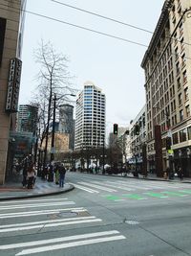
<instances>
[{"instance_id":1,"label":"upper of the two overhead wires crossing the sky","mask_svg":"<svg viewBox=\"0 0 191 256\"><path fill-rule=\"evenodd\" d=\"M65 3L62 3L62 2L59 2L59 1L56 1L56 0L51 0L51 1L54 2L54 3L56 3L56 4L59 4L59 5L62 5L62 6L66 6L66 7L72 8L72 9L77 10L77 11L80 11L80 12L86 12L86 13L95 15L95 16L97 16L97 17L100 17L100 18L103 18L103 19L107 19L107 20L116 22L116 23L118 23L118 24L121 24L121 25L124 25L124 26L128 26L128 27L133 28L133 29L137 29L137 30L139 30L139 31L143 31L143 32L146 32L146 33L149 33L149 34L153 34L153 32L148 31L148 30L146 30L146 29L139 28L139 27L134 26L134 25L132 25L132 24L129 24L129 23L126 23L126 22L122 22L122 21L120 21L120 20L117 20L117 19L114 19L114 18L110 18L110 17L104 16L104 15L101 15L101 14L96 13L96 12L90 12L90 11L87 11L87 10L84 10L84 9L80 9L80 8L74 7L74 6L72 6L72 5L67 5L67 4L65 4Z\"/></svg>"}]
</instances>

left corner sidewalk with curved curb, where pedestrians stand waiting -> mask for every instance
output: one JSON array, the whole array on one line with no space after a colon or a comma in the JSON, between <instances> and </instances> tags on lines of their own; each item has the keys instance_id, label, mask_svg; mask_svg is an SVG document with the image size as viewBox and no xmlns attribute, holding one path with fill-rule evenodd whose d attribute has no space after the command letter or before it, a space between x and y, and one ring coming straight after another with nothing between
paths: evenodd
<instances>
[{"instance_id":1,"label":"left corner sidewalk with curved curb, where pedestrians stand waiting","mask_svg":"<svg viewBox=\"0 0 191 256\"><path fill-rule=\"evenodd\" d=\"M33 189L23 188L20 178L14 182L8 182L0 185L0 201L21 199L21 198L39 198L46 196L53 196L69 192L74 189L71 184L64 184L63 188L59 188L54 182L48 182L37 177Z\"/></svg>"}]
</instances>

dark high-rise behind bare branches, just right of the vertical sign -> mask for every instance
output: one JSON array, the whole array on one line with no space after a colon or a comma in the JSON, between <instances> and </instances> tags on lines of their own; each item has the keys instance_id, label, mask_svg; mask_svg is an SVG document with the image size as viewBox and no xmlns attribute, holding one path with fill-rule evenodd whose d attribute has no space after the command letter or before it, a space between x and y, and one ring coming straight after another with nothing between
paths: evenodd
<instances>
[{"instance_id":1,"label":"dark high-rise behind bare branches, just right of the vertical sign","mask_svg":"<svg viewBox=\"0 0 191 256\"><path fill-rule=\"evenodd\" d=\"M38 107L34 105L19 105L17 130L37 132Z\"/></svg>"}]
</instances>

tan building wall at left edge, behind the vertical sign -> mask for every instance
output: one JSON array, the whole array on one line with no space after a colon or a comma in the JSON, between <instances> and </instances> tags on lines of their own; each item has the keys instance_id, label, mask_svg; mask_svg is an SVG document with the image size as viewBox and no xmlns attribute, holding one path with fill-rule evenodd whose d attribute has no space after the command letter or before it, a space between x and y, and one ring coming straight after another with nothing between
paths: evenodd
<instances>
[{"instance_id":1,"label":"tan building wall at left edge, behind the vertical sign","mask_svg":"<svg viewBox=\"0 0 191 256\"><path fill-rule=\"evenodd\" d=\"M0 184L5 182L10 130L15 128L15 115L6 112L12 58L20 58L26 1L5 0L0 3ZM19 79L19 78L18 78ZM17 83L19 86L19 82ZM17 96L19 87L16 88ZM17 109L15 109L16 111Z\"/></svg>"}]
</instances>

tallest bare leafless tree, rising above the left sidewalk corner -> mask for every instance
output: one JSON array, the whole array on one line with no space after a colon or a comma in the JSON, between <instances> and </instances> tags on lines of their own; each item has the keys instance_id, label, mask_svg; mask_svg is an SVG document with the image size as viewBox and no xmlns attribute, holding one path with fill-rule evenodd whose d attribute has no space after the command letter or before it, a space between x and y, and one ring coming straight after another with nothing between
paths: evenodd
<instances>
[{"instance_id":1,"label":"tallest bare leafless tree, rising above the left sidewalk corner","mask_svg":"<svg viewBox=\"0 0 191 256\"><path fill-rule=\"evenodd\" d=\"M72 77L68 71L67 63L69 62L69 59L61 53L56 53L50 42L44 43L41 41L41 45L34 52L34 58L39 65L37 94L40 96L38 97L38 99L40 98L38 101L42 111L41 125L44 127L41 137L41 144L45 139L43 159L44 170L47 162L47 147L52 116L53 95L58 95L58 99L61 99L61 96L74 93L74 89L71 83ZM65 97L64 100L67 100L67 97Z\"/></svg>"}]
</instances>

